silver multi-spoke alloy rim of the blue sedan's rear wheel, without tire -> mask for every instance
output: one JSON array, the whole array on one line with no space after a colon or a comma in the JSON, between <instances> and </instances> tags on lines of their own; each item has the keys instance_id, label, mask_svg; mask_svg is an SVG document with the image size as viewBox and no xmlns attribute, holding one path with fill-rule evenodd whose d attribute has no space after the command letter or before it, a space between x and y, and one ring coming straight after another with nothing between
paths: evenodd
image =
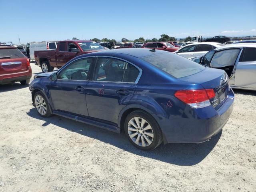
<instances>
[{"instance_id":1,"label":"silver multi-spoke alloy rim of the blue sedan's rear wheel, without tire","mask_svg":"<svg viewBox=\"0 0 256 192\"><path fill-rule=\"evenodd\" d=\"M128 122L128 134L138 146L149 146L154 139L154 132L150 124L141 117L134 117Z\"/></svg>"}]
</instances>

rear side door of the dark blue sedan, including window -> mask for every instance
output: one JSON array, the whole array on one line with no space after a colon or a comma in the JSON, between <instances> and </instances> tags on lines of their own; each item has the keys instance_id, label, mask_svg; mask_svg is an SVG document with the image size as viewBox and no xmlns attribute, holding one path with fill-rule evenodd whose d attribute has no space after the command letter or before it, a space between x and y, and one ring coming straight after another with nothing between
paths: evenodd
<instances>
[{"instance_id":1,"label":"rear side door of the dark blue sedan, including window","mask_svg":"<svg viewBox=\"0 0 256 192\"><path fill-rule=\"evenodd\" d=\"M134 94L138 75L138 68L126 61L99 57L86 86L89 116L117 124L120 111Z\"/></svg>"}]
</instances>

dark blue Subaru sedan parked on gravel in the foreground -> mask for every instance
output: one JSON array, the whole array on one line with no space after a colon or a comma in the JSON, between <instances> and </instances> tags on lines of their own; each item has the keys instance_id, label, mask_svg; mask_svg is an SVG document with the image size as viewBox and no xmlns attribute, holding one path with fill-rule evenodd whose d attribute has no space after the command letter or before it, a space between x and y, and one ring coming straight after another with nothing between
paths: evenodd
<instances>
[{"instance_id":1,"label":"dark blue Subaru sedan parked on gravel in the foreground","mask_svg":"<svg viewBox=\"0 0 256 192\"><path fill-rule=\"evenodd\" d=\"M29 89L40 116L124 131L142 150L210 140L234 103L224 70L156 49L81 55L58 72L36 75Z\"/></svg>"}]
</instances>

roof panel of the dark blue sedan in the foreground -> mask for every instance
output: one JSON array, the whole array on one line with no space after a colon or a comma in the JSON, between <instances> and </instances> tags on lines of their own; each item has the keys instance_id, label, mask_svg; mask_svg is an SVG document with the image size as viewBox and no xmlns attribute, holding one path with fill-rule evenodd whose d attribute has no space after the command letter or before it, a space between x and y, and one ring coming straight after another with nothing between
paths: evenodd
<instances>
[{"instance_id":1,"label":"roof panel of the dark blue sedan in the foreground","mask_svg":"<svg viewBox=\"0 0 256 192\"><path fill-rule=\"evenodd\" d=\"M150 51L150 49L134 49L134 48L126 48L126 49L112 49L112 50L104 50L99 52L93 52L89 54L84 54L79 57L87 57L87 56L117 56L118 54L126 54L129 56L133 56L136 58L142 58L146 56L163 54L166 51L155 50L156 52Z\"/></svg>"}]
</instances>

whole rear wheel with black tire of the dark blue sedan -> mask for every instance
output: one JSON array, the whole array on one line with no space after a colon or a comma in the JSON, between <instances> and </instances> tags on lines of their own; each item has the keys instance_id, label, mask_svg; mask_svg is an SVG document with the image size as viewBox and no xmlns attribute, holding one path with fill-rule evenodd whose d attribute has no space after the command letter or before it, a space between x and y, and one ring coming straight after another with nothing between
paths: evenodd
<instances>
[{"instance_id":1,"label":"whole rear wheel with black tire of the dark blue sedan","mask_svg":"<svg viewBox=\"0 0 256 192\"><path fill-rule=\"evenodd\" d=\"M153 150L162 143L162 131L156 120L147 112L131 112L124 122L128 140L141 150Z\"/></svg>"}]
</instances>

